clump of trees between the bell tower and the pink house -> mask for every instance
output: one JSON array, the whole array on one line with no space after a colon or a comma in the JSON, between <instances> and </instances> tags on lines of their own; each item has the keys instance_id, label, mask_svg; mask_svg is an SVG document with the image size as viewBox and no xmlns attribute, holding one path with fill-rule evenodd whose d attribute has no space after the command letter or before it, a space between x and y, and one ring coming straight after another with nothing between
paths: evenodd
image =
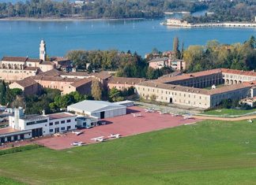
<instances>
[{"instance_id":1,"label":"clump of trees between the bell tower and the pink house","mask_svg":"<svg viewBox=\"0 0 256 185\"><path fill-rule=\"evenodd\" d=\"M146 59L136 52L131 54L130 50L126 53L118 50L71 50L66 57L73 61L78 70L115 71L119 77L157 79L173 71L171 68L149 68Z\"/></svg>"}]
</instances>

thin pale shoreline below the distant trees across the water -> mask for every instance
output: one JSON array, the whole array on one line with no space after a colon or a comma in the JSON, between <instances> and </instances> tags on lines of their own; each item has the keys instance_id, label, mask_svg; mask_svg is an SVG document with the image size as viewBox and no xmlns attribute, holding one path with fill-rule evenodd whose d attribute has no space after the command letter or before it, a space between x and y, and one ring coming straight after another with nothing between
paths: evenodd
<instances>
[{"instance_id":1,"label":"thin pale shoreline below the distant trees across the water","mask_svg":"<svg viewBox=\"0 0 256 185\"><path fill-rule=\"evenodd\" d=\"M5 17L0 18L0 21L85 21L85 20L145 20L146 18L86 18L86 17Z\"/></svg>"}]
</instances>

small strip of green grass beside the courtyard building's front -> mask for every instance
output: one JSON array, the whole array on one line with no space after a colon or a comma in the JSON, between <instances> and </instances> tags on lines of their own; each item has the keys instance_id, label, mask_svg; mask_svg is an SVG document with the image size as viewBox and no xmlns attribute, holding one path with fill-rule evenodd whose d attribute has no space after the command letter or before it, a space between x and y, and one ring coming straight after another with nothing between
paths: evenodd
<instances>
[{"instance_id":1,"label":"small strip of green grass beside the courtyard building's front","mask_svg":"<svg viewBox=\"0 0 256 185\"><path fill-rule=\"evenodd\" d=\"M249 110L239 110L239 109L215 109L206 111L205 115L213 115L213 116L236 116L236 115L244 115L246 113L256 112L256 109Z\"/></svg>"}]
</instances>

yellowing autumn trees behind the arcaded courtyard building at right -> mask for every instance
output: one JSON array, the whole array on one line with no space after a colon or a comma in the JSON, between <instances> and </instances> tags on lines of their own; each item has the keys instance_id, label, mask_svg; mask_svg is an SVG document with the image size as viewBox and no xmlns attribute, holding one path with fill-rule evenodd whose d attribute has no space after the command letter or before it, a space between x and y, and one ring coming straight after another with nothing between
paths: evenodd
<instances>
[{"instance_id":1,"label":"yellowing autumn trees behind the arcaded courtyard building at right","mask_svg":"<svg viewBox=\"0 0 256 185\"><path fill-rule=\"evenodd\" d=\"M251 36L244 43L232 45L209 41L206 46L189 46L184 51L187 72L199 72L212 68L239 70L256 69L256 41Z\"/></svg>"}]
</instances>

